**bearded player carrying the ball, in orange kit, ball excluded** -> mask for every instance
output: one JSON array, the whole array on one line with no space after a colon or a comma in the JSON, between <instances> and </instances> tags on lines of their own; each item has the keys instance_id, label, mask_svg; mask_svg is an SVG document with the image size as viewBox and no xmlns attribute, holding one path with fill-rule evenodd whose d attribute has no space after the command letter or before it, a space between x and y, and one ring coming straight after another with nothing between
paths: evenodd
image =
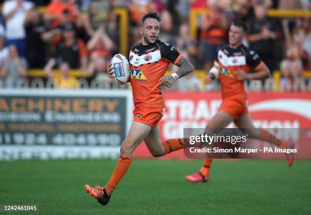
<instances>
[{"instance_id":1,"label":"bearded player carrying the ball, in orange kit, ball excluded","mask_svg":"<svg viewBox=\"0 0 311 215\"><path fill-rule=\"evenodd\" d=\"M181 56L174 46L158 40L161 19L157 13L149 12L142 17L139 27L142 43L130 51L131 85L135 109L134 120L126 139L120 147L120 157L106 186L91 188L85 185L86 192L106 205L113 190L128 171L135 148L144 141L154 157L164 156L172 151L188 147L183 138L160 140L159 121L165 111L161 85L171 87L178 78L193 71L192 64ZM170 63L180 67L179 70L164 76ZM113 67L107 68L109 77L113 78Z\"/></svg>"}]
</instances>

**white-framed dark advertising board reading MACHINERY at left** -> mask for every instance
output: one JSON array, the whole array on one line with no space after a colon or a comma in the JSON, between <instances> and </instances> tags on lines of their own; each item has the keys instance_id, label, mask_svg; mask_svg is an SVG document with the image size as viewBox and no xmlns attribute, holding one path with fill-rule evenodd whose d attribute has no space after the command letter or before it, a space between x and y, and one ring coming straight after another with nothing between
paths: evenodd
<instances>
[{"instance_id":1,"label":"white-framed dark advertising board reading MACHINERY at left","mask_svg":"<svg viewBox=\"0 0 311 215\"><path fill-rule=\"evenodd\" d=\"M130 90L2 89L0 160L116 158L132 101Z\"/></svg>"}]
</instances>

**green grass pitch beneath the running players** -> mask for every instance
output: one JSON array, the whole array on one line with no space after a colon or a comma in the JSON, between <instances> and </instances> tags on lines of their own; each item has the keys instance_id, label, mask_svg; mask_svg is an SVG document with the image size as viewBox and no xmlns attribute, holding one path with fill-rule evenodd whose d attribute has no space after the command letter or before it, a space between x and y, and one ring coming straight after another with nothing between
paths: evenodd
<instances>
[{"instance_id":1,"label":"green grass pitch beneath the running players","mask_svg":"<svg viewBox=\"0 0 311 215\"><path fill-rule=\"evenodd\" d=\"M210 181L193 184L184 176L201 160L134 160L102 206L83 186L104 186L115 163L0 162L0 204L36 204L34 214L311 214L311 161L217 160Z\"/></svg>"}]
</instances>

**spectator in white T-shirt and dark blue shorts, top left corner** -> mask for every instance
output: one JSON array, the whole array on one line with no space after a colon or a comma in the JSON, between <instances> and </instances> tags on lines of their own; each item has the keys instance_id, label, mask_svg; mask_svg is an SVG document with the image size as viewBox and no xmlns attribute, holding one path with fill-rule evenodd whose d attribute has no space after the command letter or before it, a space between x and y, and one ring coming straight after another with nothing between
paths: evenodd
<instances>
[{"instance_id":1,"label":"spectator in white T-shirt and dark blue shorts, top left corner","mask_svg":"<svg viewBox=\"0 0 311 215\"><path fill-rule=\"evenodd\" d=\"M25 56L25 29L24 20L27 11L33 4L24 0L9 0L3 5L3 14L6 18L7 44L14 44L20 56Z\"/></svg>"}]
</instances>

